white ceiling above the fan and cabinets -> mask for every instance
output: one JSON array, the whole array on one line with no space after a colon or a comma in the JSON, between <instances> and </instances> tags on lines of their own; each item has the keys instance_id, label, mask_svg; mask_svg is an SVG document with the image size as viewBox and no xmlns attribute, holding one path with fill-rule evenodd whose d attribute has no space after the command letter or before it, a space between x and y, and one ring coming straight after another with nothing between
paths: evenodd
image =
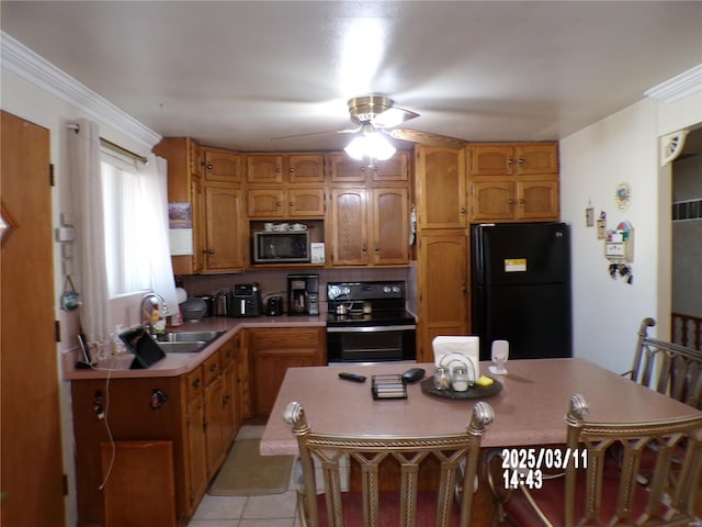
<instances>
[{"instance_id":1,"label":"white ceiling above the fan and cabinets","mask_svg":"<svg viewBox=\"0 0 702 527\"><path fill-rule=\"evenodd\" d=\"M406 127L559 139L702 64L700 1L7 1L2 31L163 136L340 149L347 100ZM399 148L407 143L395 142Z\"/></svg>"}]
</instances>

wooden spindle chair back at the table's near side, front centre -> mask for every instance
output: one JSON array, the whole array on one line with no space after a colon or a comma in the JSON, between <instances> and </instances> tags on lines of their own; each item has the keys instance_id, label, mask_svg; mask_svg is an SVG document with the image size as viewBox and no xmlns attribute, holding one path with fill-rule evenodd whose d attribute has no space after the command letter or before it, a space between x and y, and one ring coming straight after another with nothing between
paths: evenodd
<instances>
[{"instance_id":1,"label":"wooden spindle chair back at the table's near side, front centre","mask_svg":"<svg viewBox=\"0 0 702 527\"><path fill-rule=\"evenodd\" d=\"M293 425L299 446L304 490L298 503L304 525L469 525L480 440L486 426L492 422L492 408L487 403L475 404L465 433L431 437L316 434L302 405L295 402L288 404L284 417ZM421 462L432 456L440 464L440 481L437 491L427 498L418 491L418 474ZM381 463L388 458L400 466L399 492L393 495L380 490ZM342 491L344 460L349 459L360 464L360 492ZM320 485L324 494L319 495L315 464L320 467L324 483ZM432 516L430 523L428 509Z\"/></svg>"}]
</instances>

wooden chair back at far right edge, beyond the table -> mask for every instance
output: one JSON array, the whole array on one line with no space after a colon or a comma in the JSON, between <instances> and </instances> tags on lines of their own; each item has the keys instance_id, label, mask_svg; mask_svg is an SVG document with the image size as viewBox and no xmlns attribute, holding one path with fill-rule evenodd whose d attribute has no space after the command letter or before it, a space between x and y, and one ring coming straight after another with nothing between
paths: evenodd
<instances>
[{"instance_id":1,"label":"wooden chair back at far right edge, beyond the table","mask_svg":"<svg viewBox=\"0 0 702 527\"><path fill-rule=\"evenodd\" d=\"M656 325L644 318L638 329L634 365L626 374L634 382L702 410L702 351L648 336Z\"/></svg>"}]
</instances>

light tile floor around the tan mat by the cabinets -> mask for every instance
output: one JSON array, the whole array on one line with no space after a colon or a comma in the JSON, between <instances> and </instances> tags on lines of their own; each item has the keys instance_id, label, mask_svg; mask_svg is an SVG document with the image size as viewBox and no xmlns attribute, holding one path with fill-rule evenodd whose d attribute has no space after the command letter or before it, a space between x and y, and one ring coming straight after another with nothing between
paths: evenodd
<instances>
[{"instance_id":1,"label":"light tile floor around the tan mat by the cabinets","mask_svg":"<svg viewBox=\"0 0 702 527\"><path fill-rule=\"evenodd\" d=\"M245 425L237 438L261 437L263 426ZM269 496L211 496L205 494L188 527L296 527L295 471L288 491Z\"/></svg>"}]
</instances>

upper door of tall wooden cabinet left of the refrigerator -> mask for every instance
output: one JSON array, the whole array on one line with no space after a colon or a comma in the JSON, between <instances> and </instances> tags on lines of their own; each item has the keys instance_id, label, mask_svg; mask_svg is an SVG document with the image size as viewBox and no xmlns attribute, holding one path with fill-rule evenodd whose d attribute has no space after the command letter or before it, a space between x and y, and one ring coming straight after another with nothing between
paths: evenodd
<instances>
[{"instance_id":1,"label":"upper door of tall wooden cabinet left of the refrigerator","mask_svg":"<svg viewBox=\"0 0 702 527\"><path fill-rule=\"evenodd\" d=\"M465 152L433 146L416 149L419 228L466 226Z\"/></svg>"}]
</instances>

